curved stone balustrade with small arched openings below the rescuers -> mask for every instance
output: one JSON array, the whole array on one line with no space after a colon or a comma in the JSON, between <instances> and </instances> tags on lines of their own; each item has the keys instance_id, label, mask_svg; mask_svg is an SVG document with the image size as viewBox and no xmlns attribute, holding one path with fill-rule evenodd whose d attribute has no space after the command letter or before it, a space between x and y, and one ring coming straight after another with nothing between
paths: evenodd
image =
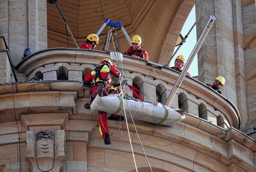
<instances>
[{"instance_id":1,"label":"curved stone balustrade with small arched openings below the rescuers","mask_svg":"<svg viewBox=\"0 0 256 172\"><path fill-rule=\"evenodd\" d=\"M31 54L17 65L18 80L68 80L83 82L83 74L95 68L109 54L101 51L72 48L52 48ZM116 62L113 61L116 65ZM164 103L179 76L177 71L167 67L148 65L147 61L124 57L124 76L149 97ZM86 90L85 90L86 93ZM128 91L132 96L132 92ZM86 95L86 94L84 94ZM87 94L88 96L88 94ZM144 101L152 101L141 95ZM239 129L239 112L228 99L210 89L204 83L185 77L171 106L186 110L186 113L200 117L220 127Z\"/></svg>"}]
</instances>

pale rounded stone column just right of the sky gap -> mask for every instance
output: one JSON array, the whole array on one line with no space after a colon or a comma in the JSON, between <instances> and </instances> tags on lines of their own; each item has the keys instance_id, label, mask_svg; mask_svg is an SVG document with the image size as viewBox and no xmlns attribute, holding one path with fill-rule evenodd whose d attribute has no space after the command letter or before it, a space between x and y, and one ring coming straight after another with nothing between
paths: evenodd
<instances>
[{"instance_id":1,"label":"pale rounded stone column just right of the sky gap","mask_svg":"<svg viewBox=\"0 0 256 172\"><path fill-rule=\"evenodd\" d=\"M195 4L197 36L204 29L209 16L216 17L216 21L198 52L199 80L212 83L216 76L225 77L226 84L221 89L222 95L237 106L237 87L241 87L241 83L237 83L236 75L243 71L243 66L236 65L232 1L196 0ZM240 85L237 86L237 84Z\"/></svg>"}]
</instances>

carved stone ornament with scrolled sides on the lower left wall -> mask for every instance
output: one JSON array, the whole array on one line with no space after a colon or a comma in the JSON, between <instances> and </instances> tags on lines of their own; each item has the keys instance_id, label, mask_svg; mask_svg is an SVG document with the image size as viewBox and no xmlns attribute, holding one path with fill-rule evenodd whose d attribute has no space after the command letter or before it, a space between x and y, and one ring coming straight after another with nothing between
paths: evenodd
<instances>
[{"instance_id":1,"label":"carved stone ornament with scrolled sides on the lower left wall","mask_svg":"<svg viewBox=\"0 0 256 172\"><path fill-rule=\"evenodd\" d=\"M59 171L65 160L65 131L27 131L26 161L30 171Z\"/></svg>"}]
</instances>

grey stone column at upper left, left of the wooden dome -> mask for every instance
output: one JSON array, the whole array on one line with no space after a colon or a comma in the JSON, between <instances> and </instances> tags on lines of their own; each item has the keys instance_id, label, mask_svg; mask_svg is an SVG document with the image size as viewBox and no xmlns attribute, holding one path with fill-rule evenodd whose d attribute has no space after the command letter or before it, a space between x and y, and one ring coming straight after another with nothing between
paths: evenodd
<instances>
[{"instance_id":1,"label":"grey stone column at upper left, left of the wooden dome","mask_svg":"<svg viewBox=\"0 0 256 172\"><path fill-rule=\"evenodd\" d=\"M14 65L21 61L26 48L31 52L47 48L46 9L46 0L0 2L0 34L6 38Z\"/></svg>"}]
</instances>

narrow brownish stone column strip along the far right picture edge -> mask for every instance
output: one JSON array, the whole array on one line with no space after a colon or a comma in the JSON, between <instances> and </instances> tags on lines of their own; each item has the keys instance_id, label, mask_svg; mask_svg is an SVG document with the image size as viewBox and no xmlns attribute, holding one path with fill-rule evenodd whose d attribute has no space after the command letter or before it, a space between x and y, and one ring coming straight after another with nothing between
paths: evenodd
<instances>
[{"instance_id":1,"label":"narrow brownish stone column strip along the far right picture edge","mask_svg":"<svg viewBox=\"0 0 256 172\"><path fill-rule=\"evenodd\" d=\"M255 1L243 0L241 3L243 14L243 42L244 50L245 81L248 124L245 133L253 131L256 124L256 3ZM246 104L246 103L245 103Z\"/></svg>"}]
</instances>

